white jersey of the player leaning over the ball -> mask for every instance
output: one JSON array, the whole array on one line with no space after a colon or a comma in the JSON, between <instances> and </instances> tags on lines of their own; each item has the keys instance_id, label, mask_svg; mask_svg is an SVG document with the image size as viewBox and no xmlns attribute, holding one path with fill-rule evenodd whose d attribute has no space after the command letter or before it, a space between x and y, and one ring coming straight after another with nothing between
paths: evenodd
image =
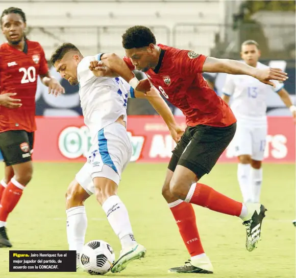
<instances>
[{"instance_id":1,"label":"white jersey of the player leaning over the ball","mask_svg":"<svg viewBox=\"0 0 296 278\"><path fill-rule=\"evenodd\" d=\"M128 97L134 97L133 88L124 79L93 75L88 67L95 57L84 57L77 67L84 123L90 130L92 142L98 131L120 116L127 122Z\"/></svg>"}]
</instances>

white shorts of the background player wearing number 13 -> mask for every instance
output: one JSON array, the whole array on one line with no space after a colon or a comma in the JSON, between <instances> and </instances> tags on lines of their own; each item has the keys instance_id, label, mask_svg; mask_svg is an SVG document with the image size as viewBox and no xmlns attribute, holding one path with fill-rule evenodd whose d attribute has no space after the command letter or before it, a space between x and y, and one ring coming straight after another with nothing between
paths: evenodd
<instances>
[{"instance_id":1,"label":"white shorts of the background player wearing number 13","mask_svg":"<svg viewBox=\"0 0 296 278\"><path fill-rule=\"evenodd\" d=\"M257 161L264 158L266 145L267 126L248 127L237 123L232 146L236 156L248 154Z\"/></svg>"}]
</instances>

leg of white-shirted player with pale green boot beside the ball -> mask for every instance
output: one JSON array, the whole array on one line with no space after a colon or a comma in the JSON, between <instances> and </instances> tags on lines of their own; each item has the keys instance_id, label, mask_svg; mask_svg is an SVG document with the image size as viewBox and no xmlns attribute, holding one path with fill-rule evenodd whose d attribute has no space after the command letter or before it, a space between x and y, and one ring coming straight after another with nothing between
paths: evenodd
<instances>
[{"instance_id":1,"label":"leg of white-shirted player with pale green boot beside the ball","mask_svg":"<svg viewBox=\"0 0 296 278\"><path fill-rule=\"evenodd\" d=\"M111 268L113 273L120 272L126 269L128 263L143 258L146 249L134 238L128 210L117 196L117 184L104 177L93 178L93 184L95 198L102 205L110 226L121 243L119 258Z\"/></svg>"}]
</instances>

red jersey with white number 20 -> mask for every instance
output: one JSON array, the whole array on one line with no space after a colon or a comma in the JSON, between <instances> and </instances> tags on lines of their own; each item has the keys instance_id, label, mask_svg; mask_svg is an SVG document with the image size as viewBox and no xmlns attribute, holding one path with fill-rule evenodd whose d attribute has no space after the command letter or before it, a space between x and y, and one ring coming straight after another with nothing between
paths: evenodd
<instances>
[{"instance_id":1,"label":"red jersey with white number 20","mask_svg":"<svg viewBox=\"0 0 296 278\"><path fill-rule=\"evenodd\" d=\"M36 130L35 95L38 75L48 72L44 51L36 41L26 40L23 51L8 43L0 45L0 94L16 92L22 106L9 109L0 106L0 132Z\"/></svg>"}]
</instances>

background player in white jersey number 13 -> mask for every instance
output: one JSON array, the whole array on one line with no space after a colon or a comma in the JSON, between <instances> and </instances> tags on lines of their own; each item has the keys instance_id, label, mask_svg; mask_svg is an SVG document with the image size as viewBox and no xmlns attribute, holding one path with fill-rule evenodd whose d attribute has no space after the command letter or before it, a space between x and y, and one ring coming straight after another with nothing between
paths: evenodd
<instances>
[{"instance_id":1,"label":"background player in white jersey number 13","mask_svg":"<svg viewBox=\"0 0 296 278\"><path fill-rule=\"evenodd\" d=\"M258 43L247 40L241 45L241 58L250 66L267 68L258 62ZM232 98L231 109L237 118L236 133L231 145L235 148L239 164L237 177L243 202L259 203L262 183L262 160L267 135L266 98L268 91L276 92L291 110L295 119L296 108L292 105L284 84L273 81L274 86L261 83L246 75L228 75L223 88L223 100Z\"/></svg>"}]
</instances>

